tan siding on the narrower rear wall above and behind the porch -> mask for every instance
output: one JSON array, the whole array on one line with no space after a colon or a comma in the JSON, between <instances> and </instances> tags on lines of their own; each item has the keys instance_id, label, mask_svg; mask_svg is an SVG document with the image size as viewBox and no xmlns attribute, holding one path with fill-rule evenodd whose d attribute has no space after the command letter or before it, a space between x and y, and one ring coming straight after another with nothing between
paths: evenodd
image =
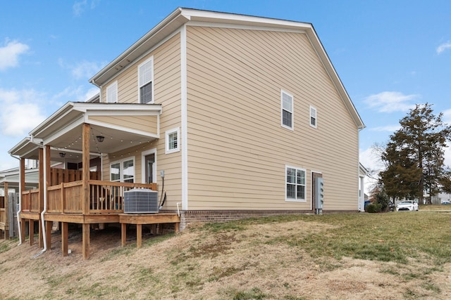
<instances>
[{"instance_id":1,"label":"tan siding on the narrower rear wall above and behind the porch","mask_svg":"<svg viewBox=\"0 0 451 300\"><path fill-rule=\"evenodd\" d=\"M161 104L163 114L160 115L160 138L152 143L145 143L134 148L128 148L121 152L111 153L104 157L104 180L109 180L109 167L111 162L118 157L135 157L135 182L142 182L142 152L156 148L156 178L161 193L160 171L165 171L164 189L167 200L164 209L176 209L176 203L181 202L181 152L165 155L165 131L180 127L180 34L176 34L147 56L137 60L131 67L122 72L115 80L118 81L118 102L139 103L137 86L137 67L151 56L154 57L154 103ZM105 99L105 98L103 98ZM99 119L99 121L106 121ZM111 118L111 116L109 116ZM144 129L156 132L155 117L134 117L132 125L134 129ZM114 117L116 124L125 124L128 120L123 117ZM151 121L152 120L152 121ZM116 121L115 121L116 122Z\"/></svg>"}]
</instances>

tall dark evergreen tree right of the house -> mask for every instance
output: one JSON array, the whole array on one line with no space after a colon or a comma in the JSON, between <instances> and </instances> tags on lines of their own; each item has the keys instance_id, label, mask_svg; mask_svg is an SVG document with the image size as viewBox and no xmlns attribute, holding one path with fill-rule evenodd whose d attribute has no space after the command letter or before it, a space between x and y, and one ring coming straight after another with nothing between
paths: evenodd
<instances>
[{"instance_id":1,"label":"tall dark evergreen tree right of the house","mask_svg":"<svg viewBox=\"0 0 451 300\"><path fill-rule=\"evenodd\" d=\"M401 129L390 136L381 159L385 170L381 182L385 192L393 199L419 198L424 192L431 196L438 193L443 177L444 148L451 138L451 126L443 123L443 114L433 115L431 105L416 105L400 120Z\"/></svg>"}]
</instances>

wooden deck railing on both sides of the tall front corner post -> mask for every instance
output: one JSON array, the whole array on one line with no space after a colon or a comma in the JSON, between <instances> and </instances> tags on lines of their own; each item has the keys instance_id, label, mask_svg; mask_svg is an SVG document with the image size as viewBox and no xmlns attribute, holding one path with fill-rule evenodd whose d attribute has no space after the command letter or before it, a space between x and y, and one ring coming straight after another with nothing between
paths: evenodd
<instances>
[{"instance_id":1,"label":"wooden deck railing on both sides of the tall front corner post","mask_svg":"<svg viewBox=\"0 0 451 300\"><path fill-rule=\"evenodd\" d=\"M116 183L89 181L89 214L119 214L123 212L123 196L126 190L149 188L156 190L156 183ZM82 181L61 183L47 189L49 213L82 213Z\"/></svg>"}]
</instances>

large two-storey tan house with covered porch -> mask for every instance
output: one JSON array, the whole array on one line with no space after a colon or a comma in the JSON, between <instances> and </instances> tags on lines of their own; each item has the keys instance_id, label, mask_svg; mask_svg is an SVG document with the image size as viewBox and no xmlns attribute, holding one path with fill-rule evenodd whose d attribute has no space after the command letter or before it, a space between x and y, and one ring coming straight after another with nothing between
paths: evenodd
<instances>
[{"instance_id":1,"label":"large two-storey tan house with covered porch","mask_svg":"<svg viewBox=\"0 0 451 300\"><path fill-rule=\"evenodd\" d=\"M323 212L360 209L364 123L309 23L178 8L90 82L97 98L66 103L10 150L40 157L44 222L82 223L85 258L89 224L120 221L132 186L158 190L161 211L180 213L161 223L182 229L313 213L316 178ZM56 161L79 180L51 180ZM108 210L101 188L121 193Z\"/></svg>"}]
</instances>

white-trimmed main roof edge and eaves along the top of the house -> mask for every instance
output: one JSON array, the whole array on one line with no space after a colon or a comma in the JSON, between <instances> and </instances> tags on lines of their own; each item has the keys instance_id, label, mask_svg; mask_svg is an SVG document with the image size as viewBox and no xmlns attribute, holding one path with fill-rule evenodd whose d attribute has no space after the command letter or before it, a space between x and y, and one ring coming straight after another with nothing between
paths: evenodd
<instances>
[{"instance_id":1,"label":"white-trimmed main roof edge and eaves along the top of the house","mask_svg":"<svg viewBox=\"0 0 451 300\"><path fill-rule=\"evenodd\" d=\"M164 20L159 22L152 30L144 34L144 36L132 44L120 56L111 63L106 65L102 70L94 75L89 82L96 86L103 86L108 83L121 70L130 67L135 60L142 58L149 52L149 49L158 45L168 35L178 30L183 25L189 25L190 22L220 23L223 25L240 25L248 27L259 27L277 30L295 30L307 34L311 45L314 47L323 67L335 85L340 97L345 103L347 110L350 112L352 119L358 129L364 129L365 124L359 116L350 96L347 94L345 86L343 86L340 77L338 77L326 50L323 48L316 31L311 23L296 22L290 20L280 20L273 18L263 18L252 15L240 15L234 13L221 13L216 11L201 11L192 8L177 8Z\"/></svg>"}]
</instances>

